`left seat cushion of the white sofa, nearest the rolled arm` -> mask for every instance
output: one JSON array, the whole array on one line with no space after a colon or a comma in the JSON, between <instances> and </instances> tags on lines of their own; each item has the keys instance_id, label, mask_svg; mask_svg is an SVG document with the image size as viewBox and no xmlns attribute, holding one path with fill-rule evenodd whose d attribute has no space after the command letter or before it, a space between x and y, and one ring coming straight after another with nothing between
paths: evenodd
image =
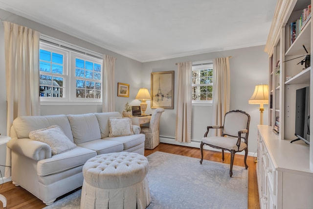
<instances>
[{"instance_id":1,"label":"left seat cushion of the white sofa, nearest the rolled arm","mask_svg":"<svg viewBox=\"0 0 313 209\"><path fill-rule=\"evenodd\" d=\"M58 155L53 155L37 163L37 174L47 176L55 173L61 173L71 168L84 165L90 158L95 157L97 153L93 150L76 146Z\"/></svg>"}]
</instances>

